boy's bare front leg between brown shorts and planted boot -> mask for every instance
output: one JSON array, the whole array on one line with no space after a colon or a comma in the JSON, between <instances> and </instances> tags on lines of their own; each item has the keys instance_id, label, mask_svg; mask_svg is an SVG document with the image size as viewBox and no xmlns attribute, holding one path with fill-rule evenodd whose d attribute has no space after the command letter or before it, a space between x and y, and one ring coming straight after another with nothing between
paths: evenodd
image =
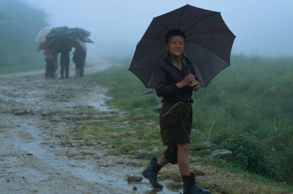
<instances>
[{"instance_id":1,"label":"boy's bare front leg between brown shorts and planted boot","mask_svg":"<svg viewBox=\"0 0 293 194\"><path fill-rule=\"evenodd\" d=\"M189 176L190 175L189 162L188 162L189 143L178 143L177 148L178 148L177 160L178 160L179 171L182 175Z\"/></svg>"}]
</instances>

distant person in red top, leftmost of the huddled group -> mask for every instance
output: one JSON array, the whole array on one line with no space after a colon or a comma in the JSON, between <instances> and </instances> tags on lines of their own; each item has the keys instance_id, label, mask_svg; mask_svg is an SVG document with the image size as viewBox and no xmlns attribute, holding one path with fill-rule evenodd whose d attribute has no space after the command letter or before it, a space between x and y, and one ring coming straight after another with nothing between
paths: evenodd
<instances>
[{"instance_id":1,"label":"distant person in red top, leftmost of the huddled group","mask_svg":"<svg viewBox=\"0 0 293 194\"><path fill-rule=\"evenodd\" d=\"M44 50L43 54L45 55L46 61L46 70L45 70L45 77L54 77L54 70L55 70L55 57L56 54L53 50L49 49L47 43L44 42L42 45L42 49Z\"/></svg>"}]
</instances>

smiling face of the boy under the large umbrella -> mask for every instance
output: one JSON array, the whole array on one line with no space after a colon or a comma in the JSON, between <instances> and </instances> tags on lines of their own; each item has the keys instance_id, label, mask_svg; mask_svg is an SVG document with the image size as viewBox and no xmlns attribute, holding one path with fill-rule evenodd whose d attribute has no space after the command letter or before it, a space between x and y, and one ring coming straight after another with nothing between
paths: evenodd
<instances>
[{"instance_id":1,"label":"smiling face of the boy under the large umbrella","mask_svg":"<svg viewBox=\"0 0 293 194\"><path fill-rule=\"evenodd\" d=\"M165 43L165 48L169 51L170 55L174 57L181 56L185 49L185 41L181 36L173 36L168 43Z\"/></svg>"}]
</instances>

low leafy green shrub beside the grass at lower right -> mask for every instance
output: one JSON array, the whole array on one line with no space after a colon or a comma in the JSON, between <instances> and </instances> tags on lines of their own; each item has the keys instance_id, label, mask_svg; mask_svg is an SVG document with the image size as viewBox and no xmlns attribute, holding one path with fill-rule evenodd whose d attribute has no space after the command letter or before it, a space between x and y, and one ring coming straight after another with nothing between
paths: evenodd
<instances>
[{"instance_id":1,"label":"low leafy green shrub beside the grass at lower right","mask_svg":"<svg viewBox=\"0 0 293 194\"><path fill-rule=\"evenodd\" d=\"M258 140L248 133L235 135L222 132L215 138L215 143L233 152L232 162L248 172L263 175L269 179L280 181L284 158L263 140Z\"/></svg>"}]
</instances>

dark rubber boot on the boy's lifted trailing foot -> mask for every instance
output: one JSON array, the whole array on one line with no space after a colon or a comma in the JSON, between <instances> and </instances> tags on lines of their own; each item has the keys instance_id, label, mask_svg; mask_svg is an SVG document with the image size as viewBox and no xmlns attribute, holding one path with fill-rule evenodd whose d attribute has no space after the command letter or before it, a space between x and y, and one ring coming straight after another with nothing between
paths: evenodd
<instances>
[{"instance_id":1,"label":"dark rubber boot on the boy's lifted trailing foot","mask_svg":"<svg viewBox=\"0 0 293 194\"><path fill-rule=\"evenodd\" d=\"M142 175L144 175L145 178L149 179L149 182L155 188L162 188L163 185L158 181L157 175L163 166L158 165L156 161L157 159L152 158L151 163L149 163L149 166L144 169Z\"/></svg>"}]
</instances>

